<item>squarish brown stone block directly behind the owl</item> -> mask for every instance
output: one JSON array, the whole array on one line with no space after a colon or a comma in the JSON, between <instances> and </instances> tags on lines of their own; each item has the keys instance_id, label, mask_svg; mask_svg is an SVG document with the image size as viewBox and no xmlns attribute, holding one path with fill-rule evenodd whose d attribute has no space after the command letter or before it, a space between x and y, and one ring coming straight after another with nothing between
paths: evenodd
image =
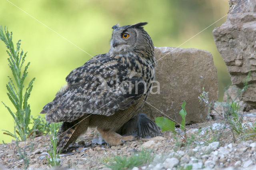
<instances>
[{"instance_id":1,"label":"squarish brown stone block directly behind the owl","mask_svg":"<svg viewBox=\"0 0 256 170\"><path fill-rule=\"evenodd\" d=\"M186 123L205 121L208 109L198 99L202 88L209 92L210 102L218 99L217 70L211 53L193 48L156 47L155 57L159 59L156 81L159 82L160 93L154 94L157 92L155 83L147 100L150 105L145 103L139 113L145 113L152 120L168 116L168 119L181 123L179 112L186 101Z\"/></svg>"}]
</instances>

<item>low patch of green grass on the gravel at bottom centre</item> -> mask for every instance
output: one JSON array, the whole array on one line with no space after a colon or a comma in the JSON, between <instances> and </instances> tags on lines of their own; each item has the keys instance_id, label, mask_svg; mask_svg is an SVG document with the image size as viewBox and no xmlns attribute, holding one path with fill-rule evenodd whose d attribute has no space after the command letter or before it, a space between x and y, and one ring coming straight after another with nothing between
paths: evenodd
<instances>
[{"instance_id":1,"label":"low patch of green grass on the gravel at bottom centre","mask_svg":"<svg viewBox=\"0 0 256 170\"><path fill-rule=\"evenodd\" d=\"M114 159L104 159L105 166L112 170L132 169L135 166L143 166L149 162L152 162L154 156L152 156L152 150L142 149L141 152L135 153L130 157L127 156L114 156ZM112 160L110 164L106 164L106 160Z\"/></svg>"}]
</instances>

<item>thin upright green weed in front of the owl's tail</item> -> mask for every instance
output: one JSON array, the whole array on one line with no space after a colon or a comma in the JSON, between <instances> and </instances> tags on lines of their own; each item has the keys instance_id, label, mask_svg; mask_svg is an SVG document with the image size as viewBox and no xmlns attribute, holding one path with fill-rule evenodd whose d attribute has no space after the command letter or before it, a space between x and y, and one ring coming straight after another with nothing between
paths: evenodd
<instances>
[{"instance_id":1,"label":"thin upright green weed in front of the owl's tail","mask_svg":"<svg viewBox=\"0 0 256 170\"><path fill-rule=\"evenodd\" d=\"M49 125L49 129L51 132L51 136L50 136L50 140L51 140L51 144L50 145L50 149L47 150L47 152L50 155L50 158L46 157L46 159L48 160L48 166L59 166L60 165L60 151L57 152L57 142L58 142L58 127L59 124L58 123L51 123Z\"/></svg>"}]
</instances>

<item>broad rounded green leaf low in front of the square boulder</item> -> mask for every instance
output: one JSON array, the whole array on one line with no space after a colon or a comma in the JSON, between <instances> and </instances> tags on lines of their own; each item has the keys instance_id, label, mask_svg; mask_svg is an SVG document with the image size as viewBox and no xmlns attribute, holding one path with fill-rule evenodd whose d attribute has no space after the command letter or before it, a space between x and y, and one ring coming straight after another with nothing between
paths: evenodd
<instances>
[{"instance_id":1,"label":"broad rounded green leaf low in front of the square boulder","mask_svg":"<svg viewBox=\"0 0 256 170\"><path fill-rule=\"evenodd\" d=\"M156 121L156 125L158 125L162 129L162 132L171 130L174 134L176 134L175 122L165 117L156 117L155 121Z\"/></svg>"}]
</instances>

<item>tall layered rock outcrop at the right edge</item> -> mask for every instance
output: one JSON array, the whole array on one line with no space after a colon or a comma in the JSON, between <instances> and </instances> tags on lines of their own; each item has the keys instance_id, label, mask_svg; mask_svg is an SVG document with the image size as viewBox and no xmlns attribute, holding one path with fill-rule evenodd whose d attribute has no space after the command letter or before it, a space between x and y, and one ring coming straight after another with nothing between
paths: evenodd
<instances>
[{"instance_id":1,"label":"tall layered rock outcrop at the right edge","mask_svg":"<svg viewBox=\"0 0 256 170\"><path fill-rule=\"evenodd\" d=\"M230 0L227 21L213 30L220 55L233 85L243 87L251 72L250 87L240 99L256 108L256 0Z\"/></svg>"}]
</instances>

